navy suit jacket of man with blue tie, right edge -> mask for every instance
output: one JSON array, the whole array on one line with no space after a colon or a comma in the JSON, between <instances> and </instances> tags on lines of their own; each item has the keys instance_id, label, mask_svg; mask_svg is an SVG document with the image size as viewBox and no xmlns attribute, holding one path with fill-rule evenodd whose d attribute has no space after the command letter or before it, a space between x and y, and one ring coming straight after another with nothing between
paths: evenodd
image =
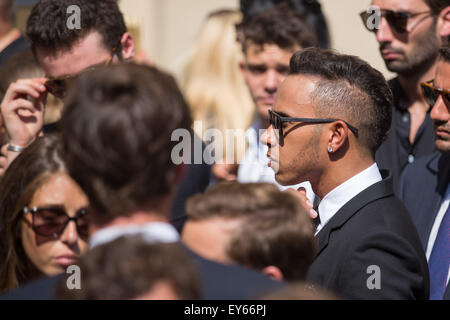
<instances>
[{"instance_id":1,"label":"navy suit jacket of man with blue tie, right edge","mask_svg":"<svg viewBox=\"0 0 450 320\"><path fill-rule=\"evenodd\" d=\"M450 154L440 152L406 167L400 180L400 198L411 213L424 248L449 183ZM444 299L450 300L450 286Z\"/></svg>"}]
</instances>

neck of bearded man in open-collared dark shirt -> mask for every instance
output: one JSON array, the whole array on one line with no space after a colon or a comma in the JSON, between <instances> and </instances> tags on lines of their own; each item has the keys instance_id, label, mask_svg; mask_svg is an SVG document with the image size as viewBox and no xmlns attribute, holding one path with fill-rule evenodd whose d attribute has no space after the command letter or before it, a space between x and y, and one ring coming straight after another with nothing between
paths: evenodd
<instances>
[{"instance_id":1,"label":"neck of bearded man in open-collared dark shirt","mask_svg":"<svg viewBox=\"0 0 450 320\"><path fill-rule=\"evenodd\" d=\"M405 94L406 103L408 107L413 105L421 105L422 108L428 110L428 104L426 103L420 83L429 81L434 78L437 65L436 59L418 67L414 70L414 73L399 74L398 80L400 86Z\"/></svg>"}]
</instances>

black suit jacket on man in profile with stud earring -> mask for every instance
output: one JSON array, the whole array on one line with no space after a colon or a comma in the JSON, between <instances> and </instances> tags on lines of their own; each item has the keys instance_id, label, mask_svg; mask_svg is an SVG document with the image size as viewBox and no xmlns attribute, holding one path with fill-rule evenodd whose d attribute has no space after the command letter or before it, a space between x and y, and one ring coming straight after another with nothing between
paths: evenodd
<instances>
[{"instance_id":1,"label":"black suit jacket on man in profile with stud earring","mask_svg":"<svg viewBox=\"0 0 450 320\"><path fill-rule=\"evenodd\" d=\"M346 299L428 299L428 266L417 231L394 196L392 176L347 202L318 233L310 282ZM370 289L380 270L380 289Z\"/></svg>"}]
</instances>

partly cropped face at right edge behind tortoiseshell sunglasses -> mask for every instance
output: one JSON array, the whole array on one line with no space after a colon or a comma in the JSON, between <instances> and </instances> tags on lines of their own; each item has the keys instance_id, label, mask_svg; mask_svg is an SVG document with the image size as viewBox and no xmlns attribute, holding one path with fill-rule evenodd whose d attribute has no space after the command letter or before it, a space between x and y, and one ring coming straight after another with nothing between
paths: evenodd
<instances>
[{"instance_id":1,"label":"partly cropped face at right edge behind tortoiseshell sunglasses","mask_svg":"<svg viewBox=\"0 0 450 320\"><path fill-rule=\"evenodd\" d=\"M434 86L450 90L450 63L439 61ZM436 148L441 152L450 152L450 105L442 96L436 100L430 116L436 131Z\"/></svg>"}]
</instances>

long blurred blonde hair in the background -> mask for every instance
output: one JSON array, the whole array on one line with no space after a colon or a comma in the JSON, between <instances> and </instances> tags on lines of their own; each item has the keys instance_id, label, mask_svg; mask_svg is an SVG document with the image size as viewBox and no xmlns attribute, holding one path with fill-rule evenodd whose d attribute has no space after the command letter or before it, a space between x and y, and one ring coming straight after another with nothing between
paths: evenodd
<instances>
[{"instance_id":1,"label":"long blurred blonde hair in the background","mask_svg":"<svg viewBox=\"0 0 450 320\"><path fill-rule=\"evenodd\" d=\"M183 69L182 89L194 121L202 121L201 132L196 130L201 137L210 128L224 137L226 129L245 132L253 120L254 103L239 68L244 57L235 26L241 20L241 13L233 10L210 14ZM235 144L234 150L224 145L223 155L233 152L240 158L244 149L242 143Z\"/></svg>"}]
</instances>

